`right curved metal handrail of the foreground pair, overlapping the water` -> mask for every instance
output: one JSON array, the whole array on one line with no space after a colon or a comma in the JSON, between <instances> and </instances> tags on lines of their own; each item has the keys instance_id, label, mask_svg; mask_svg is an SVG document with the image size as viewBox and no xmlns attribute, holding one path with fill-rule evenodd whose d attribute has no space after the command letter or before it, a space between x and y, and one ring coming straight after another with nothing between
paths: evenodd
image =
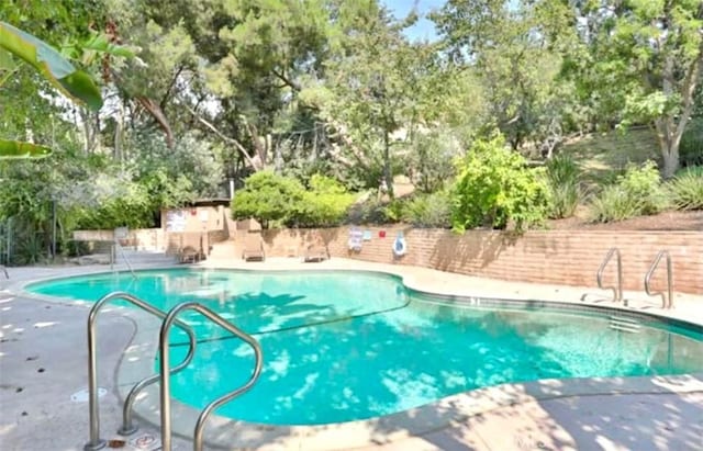
<instances>
[{"instance_id":1,"label":"right curved metal handrail of the foreground pair, overlapping the water","mask_svg":"<svg viewBox=\"0 0 703 451\"><path fill-rule=\"evenodd\" d=\"M263 361L261 347L259 346L259 343L256 341L254 337L246 334L245 331L243 331L232 323L225 320L223 317L221 317L210 308L197 302L182 303L171 308L171 311L168 313L168 316L166 317L166 319L164 319L164 323L161 324L161 332L159 335L159 351L160 351L159 373L161 375L160 402L161 402L161 450L163 451L171 451L171 404L170 404L170 372L168 369L169 367L168 331L171 327L171 324L177 320L176 317L181 312L188 311L188 309L200 313L201 315L205 316L207 318L215 323L217 326L228 330L230 332L232 332L233 335L235 335L236 337L245 341L247 345L249 345L254 349L254 354L256 359L252 377L249 377L246 384L244 384L243 386L241 386L239 388L233 392L230 392L216 398L212 403L208 404L205 408L202 410L202 413L198 417L198 421L196 422L196 430L193 432L193 450L194 451L202 451L203 428L210 414L212 414L222 404L231 401L235 396L238 396L242 393L246 392L247 390L252 388L252 386L256 383L256 380L258 379L261 372L261 361Z\"/></svg>"}]
</instances>

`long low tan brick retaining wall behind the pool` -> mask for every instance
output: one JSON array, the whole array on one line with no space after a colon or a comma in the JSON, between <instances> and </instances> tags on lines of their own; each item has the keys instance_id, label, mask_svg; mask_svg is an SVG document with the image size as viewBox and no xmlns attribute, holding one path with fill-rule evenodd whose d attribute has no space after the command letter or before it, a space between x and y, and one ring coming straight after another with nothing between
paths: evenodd
<instances>
[{"instance_id":1,"label":"long low tan brick retaining wall behind the pool","mask_svg":"<svg viewBox=\"0 0 703 451\"><path fill-rule=\"evenodd\" d=\"M703 294L703 232L527 232L515 236L496 230L464 235L445 229L365 227L371 235L361 250L348 248L349 228L264 230L266 255L301 256L317 240L331 256L366 261L414 264L462 274L524 282L594 286L595 273L607 250L617 247L623 262L623 287L644 290L644 277L659 250L670 252L673 286L678 292ZM402 232L406 252L393 256ZM384 235L384 237L381 237ZM235 239L236 240L236 239ZM294 252L293 252L294 250ZM615 259L604 272L604 284L615 282ZM652 277L652 289L665 290L666 264Z\"/></svg>"}]
</instances>

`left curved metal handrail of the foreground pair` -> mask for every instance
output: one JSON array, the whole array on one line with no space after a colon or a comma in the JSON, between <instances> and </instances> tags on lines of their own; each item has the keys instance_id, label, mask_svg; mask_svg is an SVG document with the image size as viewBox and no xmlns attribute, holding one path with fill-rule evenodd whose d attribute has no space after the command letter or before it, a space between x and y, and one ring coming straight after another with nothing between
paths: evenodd
<instances>
[{"instance_id":1,"label":"left curved metal handrail of the foreground pair","mask_svg":"<svg viewBox=\"0 0 703 451\"><path fill-rule=\"evenodd\" d=\"M99 408L98 408L98 362L97 362L97 356L96 356L96 319L98 317L98 313L100 312L100 309L105 304L114 300L127 301L136 305L137 307L150 313L152 315L155 315L159 318L166 317L165 312L161 312L158 308L154 307L153 305L147 304L146 302L140 300L138 297L124 292L113 292L113 293L107 294L102 296L102 298L100 298L100 301L98 301L90 308L90 313L88 314L88 405L89 405L89 416L90 416L90 441L88 441L88 443L83 446L83 450L86 451L99 450L101 448L104 448L104 446L107 444L107 441L100 438L100 416L99 416ZM177 325L178 327L183 329L186 334L188 334L188 338L190 341L190 349L188 350L188 356L186 356L186 359L183 360L183 362L181 362L179 365L175 367L171 370L174 372L180 371L181 369L186 368L192 360L193 354L196 353L196 335L193 334L192 329L186 323L180 320L177 322ZM154 379L154 380L150 381L150 379ZM141 381L136 386L138 386L140 390L142 390L148 384L156 382L157 380L158 377L149 376L144 381ZM149 381L149 382L147 383L146 381ZM130 395L127 396L127 402L130 402L130 396L132 396L132 398L136 396L135 388L132 388L132 391L130 392ZM126 406L126 403L125 403L125 406ZM131 406L131 402L130 402L130 406ZM127 415L126 419L130 422L129 424L125 422L125 424L131 425L130 415Z\"/></svg>"}]
</instances>

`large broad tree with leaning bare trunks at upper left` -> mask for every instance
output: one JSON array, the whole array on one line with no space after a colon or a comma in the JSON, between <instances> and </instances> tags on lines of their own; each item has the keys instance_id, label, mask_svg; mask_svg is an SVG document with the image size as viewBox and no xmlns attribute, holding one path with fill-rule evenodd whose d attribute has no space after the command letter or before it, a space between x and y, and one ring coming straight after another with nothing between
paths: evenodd
<instances>
[{"instance_id":1,"label":"large broad tree with leaning bare trunks at upper left","mask_svg":"<svg viewBox=\"0 0 703 451\"><path fill-rule=\"evenodd\" d=\"M147 2L131 13L131 30L148 50L149 67L141 70L157 75L157 81L144 86L137 79L131 89L156 89L161 99L156 104L165 116L201 126L231 147L248 171L264 170L277 157L277 135L300 128L297 120L305 115L298 92L302 78L319 69L326 43L325 4L212 0L203 8L186 0Z\"/></svg>"}]
</instances>

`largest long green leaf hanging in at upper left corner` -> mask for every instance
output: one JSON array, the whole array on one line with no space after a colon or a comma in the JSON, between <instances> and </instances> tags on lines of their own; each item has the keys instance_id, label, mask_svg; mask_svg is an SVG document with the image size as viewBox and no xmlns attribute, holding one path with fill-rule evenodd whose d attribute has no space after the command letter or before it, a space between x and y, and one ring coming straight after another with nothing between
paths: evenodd
<instances>
[{"instance_id":1,"label":"largest long green leaf hanging in at upper left corner","mask_svg":"<svg viewBox=\"0 0 703 451\"><path fill-rule=\"evenodd\" d=\"M0 22L0 47L32 65L69 98L100 110L100 89L88 74L78 70L56 49L22 30Z\"/></svg>"}]
</instances>

